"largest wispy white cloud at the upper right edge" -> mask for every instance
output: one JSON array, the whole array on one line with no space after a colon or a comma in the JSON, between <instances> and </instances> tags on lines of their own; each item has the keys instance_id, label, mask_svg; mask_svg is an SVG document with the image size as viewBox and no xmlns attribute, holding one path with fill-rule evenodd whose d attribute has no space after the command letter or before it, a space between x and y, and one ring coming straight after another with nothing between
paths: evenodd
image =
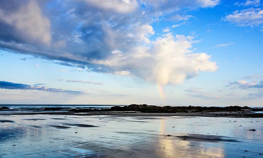
<instances>
[{"instance_id":1,"label":"largest wispy white cloud at the upper right edge","mask_svg":"<svg viewBox=\"0 0 263 158\"><path fill-rule=\"evenodd\" d=\"M224 21L237 24L238 26L260 26L263 23L263 10L261 8L249 8L236 10L224 18Z\"/></svg>"}]
</instances>

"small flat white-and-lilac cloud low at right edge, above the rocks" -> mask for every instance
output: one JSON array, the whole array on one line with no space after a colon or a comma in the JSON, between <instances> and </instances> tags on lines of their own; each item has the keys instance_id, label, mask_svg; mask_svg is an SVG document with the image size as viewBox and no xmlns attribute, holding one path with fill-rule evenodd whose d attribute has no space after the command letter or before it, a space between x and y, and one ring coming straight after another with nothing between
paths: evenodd
<instances>
[{"instance_id":1,"label":"small flat white-and-lilac cloud low at right edge, above the rocks","mask_svg":"<svg viewBox=\"0 0 263 158\"><path fill-rule=\"evenodd\" d=\"M248 88L263 88L263 81L259 83L249 83L245 80L229 82L229 87L239 88L239 89L248 89Z\"/></svg>"}]
</instances>

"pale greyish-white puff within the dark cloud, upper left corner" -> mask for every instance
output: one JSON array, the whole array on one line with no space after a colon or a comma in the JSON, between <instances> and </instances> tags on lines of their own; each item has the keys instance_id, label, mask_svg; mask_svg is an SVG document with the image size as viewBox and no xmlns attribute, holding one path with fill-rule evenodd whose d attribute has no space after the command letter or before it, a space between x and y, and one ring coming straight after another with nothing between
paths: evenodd
<instances>
[{"instance_id":1,"label":"pale greyish-white puff within the dark cloud, upper left corner","mask_svg":"<svg viewBox=\"0 0 263 158\"><path fill-rule=\"evenodd\" d=\"M30 1L16 12L4 12L0 9L0 20L15 27L21 40L50 46L50 21L41 13L36 1Z\"/></svg>"}]
</instances>

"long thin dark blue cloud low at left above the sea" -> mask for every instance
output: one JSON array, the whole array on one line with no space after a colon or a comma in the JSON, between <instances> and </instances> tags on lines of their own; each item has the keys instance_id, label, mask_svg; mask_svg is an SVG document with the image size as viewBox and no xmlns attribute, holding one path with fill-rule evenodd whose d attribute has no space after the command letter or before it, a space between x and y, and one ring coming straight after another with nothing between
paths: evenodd
<instances>
[{"instance_id":1,"label":"long thin dark blue cloud low at left above the sea","mask_svg":"<svg viewBox=\"0 0 263 158\"><path fill-rule=\"evenodd\" d=\"M0 88L12 89L12 90L41 90L41 91L46 91L46 92L72 93L72 94L83 93L82 91L76 91L76 90L63 90L63 89L57 89L57 88L47 88L44 86L38 86L38 84L31 86L28 84L18 84L18 83L12 83L12 82L7 82L7 81L0 81Z\"/></svg>"}]
</instances>

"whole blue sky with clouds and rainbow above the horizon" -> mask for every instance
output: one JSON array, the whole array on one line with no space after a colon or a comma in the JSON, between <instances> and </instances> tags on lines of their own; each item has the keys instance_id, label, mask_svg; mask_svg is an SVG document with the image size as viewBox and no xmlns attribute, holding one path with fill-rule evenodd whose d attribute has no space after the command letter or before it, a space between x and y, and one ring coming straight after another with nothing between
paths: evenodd
<instances>
[{"instance_id":1,"label":"whole blue sky with clouds and rainbow above the horizon","mask_svg":"<svg viewBox=\"0 0 263 158\"><path fill-rule=\"evenodd\" d=\"M2 0L0 104L263 105L262 0Z\"/></svg>"}]
</instances>

